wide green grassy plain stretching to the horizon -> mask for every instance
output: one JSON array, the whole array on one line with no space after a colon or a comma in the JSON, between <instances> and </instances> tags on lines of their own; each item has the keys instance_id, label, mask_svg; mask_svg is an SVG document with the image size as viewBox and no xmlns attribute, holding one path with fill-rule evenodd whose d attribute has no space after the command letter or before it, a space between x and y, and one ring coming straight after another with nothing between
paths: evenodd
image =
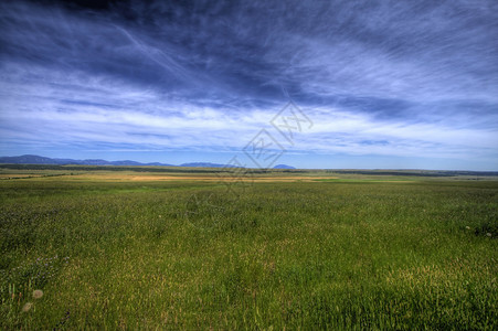
<instances>
[{"instance_id":1,"label":"wide green grassy plain stretching to the horizon","mask_svg":"<svg viewBox=\"0 0 498 331\"><path fill-rule=\"evenodd\" d=\"M0 174L0 329L498 329L496 180Z\"/></svg>"}]
</instances>

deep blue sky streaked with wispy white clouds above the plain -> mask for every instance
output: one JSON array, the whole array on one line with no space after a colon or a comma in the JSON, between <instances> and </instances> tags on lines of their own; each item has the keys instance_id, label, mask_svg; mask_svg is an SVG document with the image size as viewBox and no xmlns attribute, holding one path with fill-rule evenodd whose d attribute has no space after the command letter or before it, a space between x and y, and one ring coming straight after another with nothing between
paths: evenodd
<instances>
[{"instance_id":1,"label":"deep blue sky streaked with wispy white clouds above the plain","mask_svg":"<svg viewBox=\"0 0 498 331\"><path fill-rule=\"evenodd\" d=\"M0 156L498 170L498 2L1 1Z\"/></svg>"}]
</instances>

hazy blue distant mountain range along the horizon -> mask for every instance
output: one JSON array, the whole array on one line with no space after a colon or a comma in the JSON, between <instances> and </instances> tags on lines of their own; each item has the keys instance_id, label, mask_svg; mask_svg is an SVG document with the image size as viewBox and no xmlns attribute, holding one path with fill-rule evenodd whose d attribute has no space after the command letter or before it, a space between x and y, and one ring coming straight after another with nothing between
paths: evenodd
<instances>
[{"instance_id":1,"label":"hazy blue distant mountain range along the horizon","mask_svg":"<svg viewBox=\"0 0 498 331\"><path fill-rule=\"evenodd\" d=\"M180 166L160 163L160 162L149 162L141 163L131 160L123 161L106 161L102 159L86 159L86 160L73 160L73 159L52 159L40 156L20 156L20 157L0 157L0 163L10 164L56 164L56 166L67 166L67 164L78 164L78 166L158 166L158 167L190 167L190 168L236 168L231 164L220 164L211 162L191 162L182 163ZM287 164L275 166L274 169L296 169Z\"/></svg>"}]
</instances>

